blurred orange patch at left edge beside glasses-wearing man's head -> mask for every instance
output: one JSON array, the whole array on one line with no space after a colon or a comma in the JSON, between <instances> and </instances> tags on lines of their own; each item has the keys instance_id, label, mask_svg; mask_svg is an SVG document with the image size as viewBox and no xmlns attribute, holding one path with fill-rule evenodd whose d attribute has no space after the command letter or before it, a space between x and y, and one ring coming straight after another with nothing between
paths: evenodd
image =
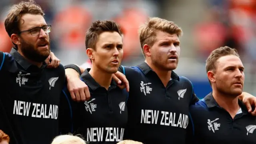
<instances>
[{"instance_id":1,"label":"blurred orange patch at left edge beside glasses-wearing man's head","mask_svg":"<svg viewBox=\"0 0 256 144\"><path fill-rule=\"evenodd\" d=\"M10 52L12 46L13 44L5 30L4 23L0 22L0 51Z\"/></svg>"}]
</instances>

